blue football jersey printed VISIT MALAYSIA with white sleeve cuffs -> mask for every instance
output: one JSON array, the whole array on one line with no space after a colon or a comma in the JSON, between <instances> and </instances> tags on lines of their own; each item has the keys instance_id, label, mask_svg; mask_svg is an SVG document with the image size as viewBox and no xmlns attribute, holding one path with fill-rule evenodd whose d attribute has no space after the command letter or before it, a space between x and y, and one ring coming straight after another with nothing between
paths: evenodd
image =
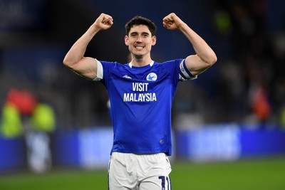
<instances>
[{"instance_id":1,"label":"blue football jersey printed VISIT MALAYSIA with white sleeve cuffs","mask_svg":"<svg viewBox=\"0 0 285 190\"><path fill-rule=\"evenodd\" d=\"M171 155L172 100L179 80L195 78L184 60L142 67L98 61L98 72L110 98L111 152Z\"/></svg>"}]
</instances>

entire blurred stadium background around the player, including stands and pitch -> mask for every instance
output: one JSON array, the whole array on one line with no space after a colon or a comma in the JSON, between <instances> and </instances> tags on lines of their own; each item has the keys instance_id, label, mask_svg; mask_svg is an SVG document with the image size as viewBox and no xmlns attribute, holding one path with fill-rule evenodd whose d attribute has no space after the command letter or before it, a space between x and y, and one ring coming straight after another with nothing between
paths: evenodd
<instances>
[{"instance_id":1,"label":"entire blurred stadium background around the player, including stands and pitch","mask_svg":"<svg viewBox=\"0 0 285 190\"><path fill-rule=\"evenodd\" d=\"M157 24L155 60L185 58L190 44L161 24L170 12L217 53L212 68L177 90L173 188L284 189L284 7L283 0L0 0L0 189L107 188L108 95L62 64L102 12L114 25L86 56L127 63L124 26L141 15Z\"/></svg>"}]
</instances>

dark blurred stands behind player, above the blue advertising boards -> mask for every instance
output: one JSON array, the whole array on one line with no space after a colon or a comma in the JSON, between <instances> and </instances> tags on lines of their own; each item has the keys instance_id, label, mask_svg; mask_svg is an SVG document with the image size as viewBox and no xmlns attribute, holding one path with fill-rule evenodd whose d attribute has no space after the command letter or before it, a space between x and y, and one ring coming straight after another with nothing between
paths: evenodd
<instances>
[{"instance_id":1,"label":"dark blurred stands behind player, above the blue advertising boards","mask_svg":"<svg viewBox=\"0 0 285 190\"><path fill-rule=\"evenodd\" d=\"M197 80L180 83L174 126L285 125L284 7L282 0L0 0L0 105L11 88L26 89L54 107L58 128L110 125L105 88L63 66L68 49L103 12L114 25L95 36L86 56L128 63L125 23L140 15L157 25L154 60L185 58L195 53L185 36L162 27L163 17L175 12L218 61Z\"/></svg>"}]
</instances>

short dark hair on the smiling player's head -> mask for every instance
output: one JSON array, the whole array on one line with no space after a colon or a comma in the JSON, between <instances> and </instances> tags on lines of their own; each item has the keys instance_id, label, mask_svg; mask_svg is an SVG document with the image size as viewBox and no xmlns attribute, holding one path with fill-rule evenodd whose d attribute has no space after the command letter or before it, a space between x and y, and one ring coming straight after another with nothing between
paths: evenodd
<instances>
[{"instance_id":1,"label":"short dark hair on the smiling player's head","mask_svg":"<svg viewBox=\"0 0 285 190\"><path fill-rule=\"evenodd\" d=\"M152 36L155 36L157 30L155 23L150 21L150 19L146 19L145 17L142 16L135 16L133 17L133 19L130 19L130 21L128 21L128 23L125 24L125 34L128 36L128 34L130 33L130 28L139 25L147 26Z\"/></svg>"}]
</instances>

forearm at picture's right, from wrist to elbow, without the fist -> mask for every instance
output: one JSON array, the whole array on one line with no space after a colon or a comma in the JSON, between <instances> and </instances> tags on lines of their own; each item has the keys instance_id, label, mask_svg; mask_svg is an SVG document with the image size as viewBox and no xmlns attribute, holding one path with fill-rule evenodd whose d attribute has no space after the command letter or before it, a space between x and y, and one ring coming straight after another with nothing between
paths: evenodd
<instances>
[{"instance_id":1,"label":"forearm at picture's right, from wrist to elbow, without the fist","mask_svg":"<svg viewBox=\"0 0 285 190\"><path fill-rule=\"evenodd\" d=\"M192 44L197 56L205 63L209 65L214 64L217 61L217 56L208 46L208 44L197 34L193 31L186 23L182 23L179 27L179 30L187 37L187 39Z\"/></svg>"}]
</instances>

